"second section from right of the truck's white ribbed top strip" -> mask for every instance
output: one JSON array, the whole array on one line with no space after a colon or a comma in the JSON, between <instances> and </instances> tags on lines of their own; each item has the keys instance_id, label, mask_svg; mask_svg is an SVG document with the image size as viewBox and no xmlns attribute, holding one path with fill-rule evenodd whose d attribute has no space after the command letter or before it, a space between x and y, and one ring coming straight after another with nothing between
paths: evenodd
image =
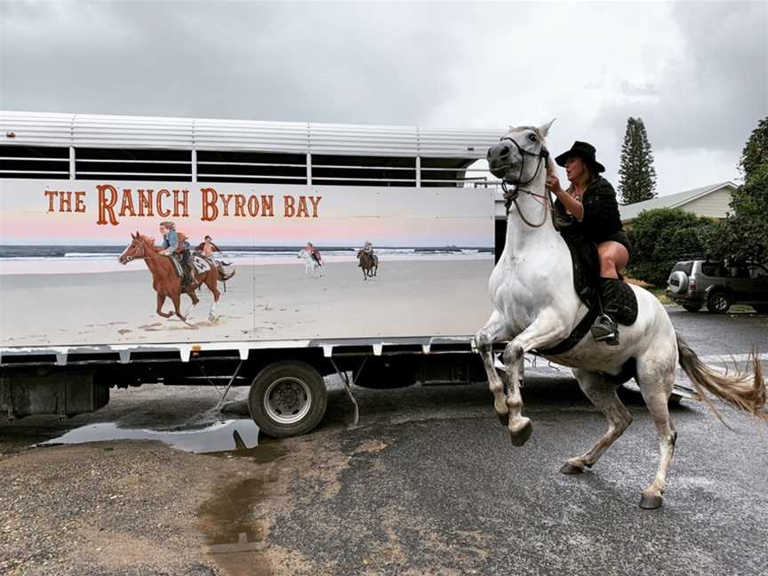
<instances>
[{"instance_id":1,"label":"second section from right of the truck's white ribbed top strip","mask_svg":"<svg viewBox=\"0 0 768 576\"><path fill-rule=\"evenodd\" d=\"M413 157L419 153L417 142L411 126L309 124L313 154Z\"/></svg>"}]
</instances>

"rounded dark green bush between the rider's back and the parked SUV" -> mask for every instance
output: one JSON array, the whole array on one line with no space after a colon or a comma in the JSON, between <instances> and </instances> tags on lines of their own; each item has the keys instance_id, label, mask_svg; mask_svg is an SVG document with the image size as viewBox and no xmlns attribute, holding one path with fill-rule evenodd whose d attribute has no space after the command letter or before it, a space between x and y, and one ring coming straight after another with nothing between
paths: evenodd
<instances>
[{"instance_id":1,"label":"rounded dark green bush between the rider's back and the parked SUV","mask_svg":"<svg viewBox=\"0 0 768 576\"><path fill-rule=\"evenodd\" d=\"M716 226L715 220L677 208L640 212L628 229L633 249L628 274L649 284L667 284L675 262L686 253L703 252L704 240Z\"/></svg>"}]
</instances>

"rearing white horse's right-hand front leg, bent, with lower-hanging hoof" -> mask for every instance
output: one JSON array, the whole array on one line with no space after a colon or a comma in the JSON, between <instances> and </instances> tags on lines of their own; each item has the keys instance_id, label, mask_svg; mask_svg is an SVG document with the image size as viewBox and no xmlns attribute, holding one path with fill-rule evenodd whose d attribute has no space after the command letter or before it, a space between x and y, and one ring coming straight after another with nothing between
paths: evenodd
<instances>
[{"instance_id":1,"label":"rearing white horse's right-hand front leg, bent, with lower-hanging hoof","mask_svg":"<svg viewBox=\"0 0 768 576\"><path fill-rule=\"evenodd\" d=\"M523 396L520 395L520 364L526 352L537 348L548 348L564 340L568 328L554 313L542 313L520 332L504 349L504 365L507 368L507 408L509 411L509 439L515 446L522 446L531 437L531 419L525 418Z\"/></svg>"}]
</instances>

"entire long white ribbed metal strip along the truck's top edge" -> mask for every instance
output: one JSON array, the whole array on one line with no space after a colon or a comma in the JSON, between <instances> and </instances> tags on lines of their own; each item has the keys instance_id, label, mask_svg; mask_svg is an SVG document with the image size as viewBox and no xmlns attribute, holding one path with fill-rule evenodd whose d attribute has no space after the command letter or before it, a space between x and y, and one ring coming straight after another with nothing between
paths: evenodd
<instances>
[{"instance_id":1,"label":"entire long white ribbed metal strip along the truck's top edge","mask_svg":"<svg viewBox=\"0 0 768 576\"><path fill-rule=\"evenodd\" d=\"M463 158L484 157L506 132L31 112L0 112L0 128L9 144ZM6 138L5 132L14 132L16 138Z\"/></svg>"}]
</instances>

